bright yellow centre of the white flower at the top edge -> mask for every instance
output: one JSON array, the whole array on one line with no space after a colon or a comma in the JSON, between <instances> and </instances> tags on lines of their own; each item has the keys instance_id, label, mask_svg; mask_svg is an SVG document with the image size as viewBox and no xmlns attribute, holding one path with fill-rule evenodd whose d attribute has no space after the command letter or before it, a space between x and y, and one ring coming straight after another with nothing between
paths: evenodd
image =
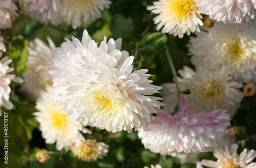
<instances>
[{"instance_id":1,"label":"bright yellow centre of the white flower at the top edge","mask_svg":"<svg viewBox=\"0 0 256 168\"><path fill-rule=\"evenodd\" d=\"M170 1L170 12L175 13L179 19L188 19L191 13L197 10L196 1L194 0L175 0Z\"/></svg>"}]
</instances>

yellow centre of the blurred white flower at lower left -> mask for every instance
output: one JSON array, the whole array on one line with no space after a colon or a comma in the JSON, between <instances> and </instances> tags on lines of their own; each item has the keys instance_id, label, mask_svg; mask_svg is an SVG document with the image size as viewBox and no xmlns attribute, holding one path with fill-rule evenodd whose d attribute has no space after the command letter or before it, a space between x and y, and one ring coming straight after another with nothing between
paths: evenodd
<instances>
[{"instance_id":1,"label":"yellow centre of the blurred white flower at lower left","mask_svg":"<svg viewBox=\"0 0 256 168\"><path fill-rule=\"evenodd\" d=\"M51 110L52 125L58 129L65 129L68 125L68 113L61 109Z\"/></svg>"}]
</instances>

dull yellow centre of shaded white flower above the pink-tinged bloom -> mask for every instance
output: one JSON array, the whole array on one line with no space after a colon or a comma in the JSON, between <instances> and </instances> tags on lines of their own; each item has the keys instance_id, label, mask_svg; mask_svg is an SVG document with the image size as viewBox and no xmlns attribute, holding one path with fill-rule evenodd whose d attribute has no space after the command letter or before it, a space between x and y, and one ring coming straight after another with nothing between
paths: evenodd
<instances>
[{"instance_id":1,"label":"dull yellow centre of shaded white flower above the pink-tinged bloom","mask_svg":"<svg viewBox=\"0 0 256 168\"><path fill-rule=\"evenodd\" d=\"M222 96L223 87L217 80L211 79L204 83L203 86L199 87L197 91L199 95L202 95L203 97L216 100Z\"/></svg>"}]
</instances>

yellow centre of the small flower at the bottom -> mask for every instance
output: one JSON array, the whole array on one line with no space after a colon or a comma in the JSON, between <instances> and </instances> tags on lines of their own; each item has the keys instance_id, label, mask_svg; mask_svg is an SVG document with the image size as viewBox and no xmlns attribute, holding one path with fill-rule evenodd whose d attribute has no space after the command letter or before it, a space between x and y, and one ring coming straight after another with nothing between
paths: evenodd
<instances>
[{"instance_id":1,"label":"yellow centre of the small flower at the bottom","mask_svg":"<svg viewBox=\"0 0 256 168\"><path fill-rule=\"evenodd\" d=\"M82 161L95 161L98 158L96 142L91 139L86 140L77 148L73 148L72 151Z\"/></svg>"}]
</instances>

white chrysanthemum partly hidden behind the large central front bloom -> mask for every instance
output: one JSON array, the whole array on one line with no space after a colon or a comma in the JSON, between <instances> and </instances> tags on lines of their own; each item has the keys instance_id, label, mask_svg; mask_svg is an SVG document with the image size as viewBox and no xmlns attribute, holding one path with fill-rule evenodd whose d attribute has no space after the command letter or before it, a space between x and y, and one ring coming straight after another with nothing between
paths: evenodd
<instances>
[{"instance_id":1,"label":"white chrysanthemum partly hidden behind the large central front bloom","mask_svg":"<svg viewBox=\"0 0 256 168\"><path fill-rule=\"evenodd\" d=\"M127 51L120 51L122 46L120 38L116 41L110 39L107 43L106 37L104 37L104 40L98 47L88 32L84 30L81 42L74 37L72 37L72 40L66 39L67 42L62 43L61 47L56 48L53 65L49 68L57 100L67 107L71 101L75 101L68 99L66 89L71 86L68 80L71 78L72 71L83 69L81 64L86 62L83 58L89 58L96 64L103 63L110 69L114 67L120 69L124 60L129 56ZM72 114L72 111L74 111L73 107L68 108L68 111L69 114Z\"/></svg>"}]
</instances>

